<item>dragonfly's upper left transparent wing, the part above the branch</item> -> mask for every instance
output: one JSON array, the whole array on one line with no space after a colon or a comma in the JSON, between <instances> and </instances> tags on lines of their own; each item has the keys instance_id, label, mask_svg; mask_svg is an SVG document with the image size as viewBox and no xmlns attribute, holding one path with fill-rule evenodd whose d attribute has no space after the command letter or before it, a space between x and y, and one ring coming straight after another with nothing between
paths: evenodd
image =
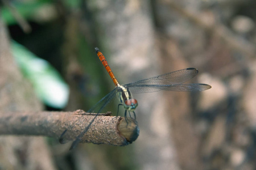
<instances>
[{"instance_id":1,"label":"dragonfly's upper left transparent wing, the part above the branch","mask_svg":"<svg viewBox=\"0 0 256 170\"><path fill-rule=\"evenodd\" d=\"M98 103L96 103L92 108L87 111L88 113L100 113L102 109L106 107L114 99L115 88L108 95L104 96Z\"/></svg>"}]
</instances>

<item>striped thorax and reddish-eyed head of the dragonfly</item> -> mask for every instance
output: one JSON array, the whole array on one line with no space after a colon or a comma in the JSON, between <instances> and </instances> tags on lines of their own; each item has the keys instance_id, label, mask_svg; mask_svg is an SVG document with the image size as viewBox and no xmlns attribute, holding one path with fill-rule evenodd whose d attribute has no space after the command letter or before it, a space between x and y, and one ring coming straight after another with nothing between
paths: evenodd
<instances>
[{"instance_id":1,"label":"striped thorax and reddish-eyed head of the dragonfly","mask_svg":"<svg viewBox=\"0 0 256 170\"><path fill-rule=\"evenodd\" d=\"M136 99L133 99L131 92L128 88L124 86L117 87L117 96L119 101L123 104L123 107L127 111L134 111L135 108L138 106L138 102Z\"/></svg>"}]
</instances>

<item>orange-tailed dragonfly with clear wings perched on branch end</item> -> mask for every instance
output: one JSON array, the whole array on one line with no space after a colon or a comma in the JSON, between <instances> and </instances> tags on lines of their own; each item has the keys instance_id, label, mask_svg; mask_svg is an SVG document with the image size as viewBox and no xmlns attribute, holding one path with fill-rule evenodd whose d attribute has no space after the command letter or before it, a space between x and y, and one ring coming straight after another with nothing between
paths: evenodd
<instances>
[{"instance_id":1,"label":"orange-tailed dragonfly with clear wings perched on branch end","mask_svg":"<svg viewBox=\"0 0 256 170\"><path fill-rule=\"evenodd\" d=\"M104 55L100 52L100 50L96 47L95 48L98 58L100 59L102 65L105 67L106 71L110 78L112 78L113 83L115 85L114 90L109 92L108 95L104 96L96 105L94 105L91 109L89 109L88 113L97 113L96 116L92 119L89 125L79 134L75 141L73 141L71 148L74 148L78 143L81 141L82 137L88 131L90 125L92 125L95 118L101 111L112 101L115 96L118 97L119 106L123 105L125 109L125 120L127 122L127 113L129 113L130 117L132 112L135 116L135 109L138 106L138 101L134 99L132 94L141 94L141 93L148 93L148 92L157 92L157 91L179 91L179 92L192 92L192 91L204 91L212 88L208 84L196 83L196 84L184 84L188 80L192 79L194 76L197 75L199 72L196 68L187 68L177 71L172 71L170 73L153 76L151 78L139 80L134 83L124 84L121 85L118 83L117 79L115 78L112 70L110 69L108 62ZM118 111L117 111L118 114Z\"/></svg>"}]
</instances>

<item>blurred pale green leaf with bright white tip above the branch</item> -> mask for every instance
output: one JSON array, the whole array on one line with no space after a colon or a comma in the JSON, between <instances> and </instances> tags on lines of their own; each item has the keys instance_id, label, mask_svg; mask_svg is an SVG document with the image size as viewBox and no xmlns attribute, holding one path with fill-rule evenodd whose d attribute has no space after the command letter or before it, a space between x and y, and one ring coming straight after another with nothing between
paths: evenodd
<instances>
[{"instance_id":1,"label":"blurred pale green leaf with bright white tip above the branch","mask_svg":"<svg viewBox=\"0 0 256 170\"><path fill-rule=\"evenodd\" d=\"M48 106L64 108L68 102L69 87L60 74L44 59L38 58L24 46L13 41L13 56L24 76L34 86L38 97Z\"/></svg>"}]
</instances>

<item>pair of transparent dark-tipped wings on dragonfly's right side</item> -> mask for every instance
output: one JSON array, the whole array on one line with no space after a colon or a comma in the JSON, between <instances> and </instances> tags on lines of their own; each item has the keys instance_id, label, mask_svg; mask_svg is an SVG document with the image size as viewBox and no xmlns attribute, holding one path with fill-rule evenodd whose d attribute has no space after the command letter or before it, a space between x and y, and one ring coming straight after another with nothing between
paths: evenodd
<instances>
[{"instance_id":1,"label":"pair of transparent dark-tipped wings on dragonfly's right side","mask_svg":"<svg viewBox=\"0 0 256 170\"><path fill-rule=\"evenodd\" d=\"M196 76L198 70L195 68L188 68L173 71L148 79L139 80L135 83L125 84L131 93L147 93L156 92L160 90L167 91L203 91L211 88L208 84L182 84Z\"/></svg>"}]
</instances>

